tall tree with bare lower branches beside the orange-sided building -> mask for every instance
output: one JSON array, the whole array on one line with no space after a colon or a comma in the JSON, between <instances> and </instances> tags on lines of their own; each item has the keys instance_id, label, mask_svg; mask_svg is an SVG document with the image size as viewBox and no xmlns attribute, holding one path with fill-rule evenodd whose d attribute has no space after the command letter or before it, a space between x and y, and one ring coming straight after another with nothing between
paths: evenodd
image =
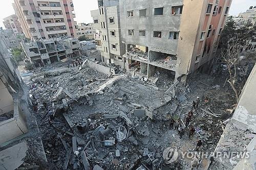
<instances>
[{"instance_id":1,"label":"tall tree with bare lower branches beside the orange-sided building","mask_svg":"<svg viewBox=\"0 0 256 170\"><path fill-rule=\"evenodd\" d=\"M240 52L242 51L242 48L249 45L252 37L253 30L250 23L238 27L231 17L227 18L220 40L221 60L222 63L227 66L227 82L236 94L237 103L241 90L237 85L238 67L242 61L240 58Z\"/></svg>"}]
</instances>

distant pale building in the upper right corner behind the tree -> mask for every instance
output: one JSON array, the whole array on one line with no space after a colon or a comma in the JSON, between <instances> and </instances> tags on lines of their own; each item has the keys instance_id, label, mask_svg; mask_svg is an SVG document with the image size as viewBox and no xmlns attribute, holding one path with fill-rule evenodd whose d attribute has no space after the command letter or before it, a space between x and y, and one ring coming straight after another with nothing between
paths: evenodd
<instances>
[{"instance_id":1,"label":"distant pale building in the upper right corner behind the tree","mask_svg":"<svg viewBox=\"0 0 256 170\"><path fill-rule=\"evenodd\" d=\"M246 12L242 12L236 18L238 25L243 26L248 22L252 23L253 27L256 27L256 6L250 6Z\"/></svg>"}]
</instances>

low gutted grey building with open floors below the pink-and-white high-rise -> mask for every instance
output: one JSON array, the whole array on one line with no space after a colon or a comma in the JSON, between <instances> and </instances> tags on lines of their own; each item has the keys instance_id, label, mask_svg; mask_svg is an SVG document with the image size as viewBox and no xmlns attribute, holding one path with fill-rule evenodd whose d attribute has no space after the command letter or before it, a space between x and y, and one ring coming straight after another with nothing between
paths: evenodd
<instances>
[{"instance_id":1,"label":"low gutted grey building with open floors below the pink-and-white high-rise","mask_svg":"<svg viewBox=\"0 0 256 170\"><path fill-rule=\"evenodd\" d=\"M22 43L24 52L35 67L58 62L67 57L80 56L78 38L58 38L56 40L36 40Z\"/></svg>"}]
</instances>

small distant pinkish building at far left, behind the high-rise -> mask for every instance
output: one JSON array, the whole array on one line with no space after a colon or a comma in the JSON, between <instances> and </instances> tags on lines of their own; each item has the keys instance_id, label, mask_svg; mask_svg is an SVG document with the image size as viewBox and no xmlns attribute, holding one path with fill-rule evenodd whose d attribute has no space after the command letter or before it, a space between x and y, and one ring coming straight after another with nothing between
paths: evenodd
<instances>
[{"instance_id":1,"label":"small distant pinkish building at far left, behind the high-rise","mask_svg":"<svg viewBox=\"0 0 256 170\"><path fill-rule=\"evenodd\" d=\"M13 31L14 35L23 33L23 30L22 30L22 27L20 26L17 15L10 15L4 18L3 23L6 29L10 29Z\"/></svg>"}]
</instances>

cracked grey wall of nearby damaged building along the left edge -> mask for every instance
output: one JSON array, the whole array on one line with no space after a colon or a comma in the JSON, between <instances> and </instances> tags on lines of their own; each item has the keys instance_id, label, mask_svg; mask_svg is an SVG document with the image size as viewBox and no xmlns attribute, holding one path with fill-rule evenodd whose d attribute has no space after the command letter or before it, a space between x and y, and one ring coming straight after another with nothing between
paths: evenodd
<instances>
[{"instance_id":1,"label":"cracked grey wall of nearby damaged building along the left edge","mask_svg":"<svg viewBox=\"0 0 256 170\"><path fill-rule=\"evenodd\" d=\"M16 169L23 164L31 151L31 138L37 148L34 155L47 161L45 153L41 152L44 149L37 124L29 111L30 100L2 37L0 60L0 169Z\"/></svg>"}]
</instances>

